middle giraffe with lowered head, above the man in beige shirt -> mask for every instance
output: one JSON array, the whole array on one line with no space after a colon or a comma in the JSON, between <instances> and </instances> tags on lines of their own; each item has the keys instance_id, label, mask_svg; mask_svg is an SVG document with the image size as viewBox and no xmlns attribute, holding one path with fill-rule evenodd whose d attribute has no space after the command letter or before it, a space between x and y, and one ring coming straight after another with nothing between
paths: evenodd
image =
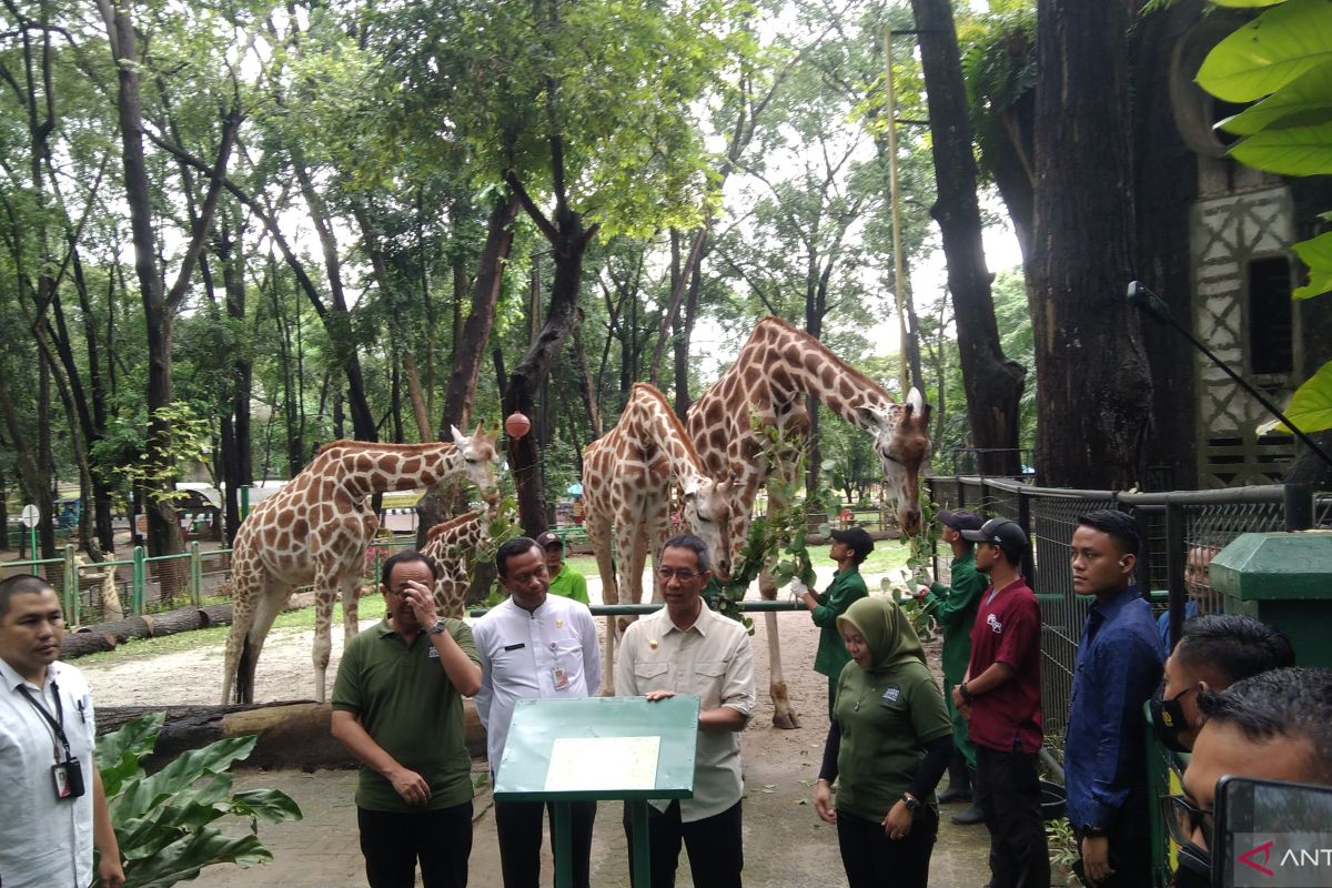
<instances>
[{"instance_id":1,"label":"middle giraffe with lowered head, above the man in beige shirt","mask_svg":"<svg viewBox=\"0 0 1332 888\"><path fill-rule=\"evenodd\" d=\"M683 491L683 517L714 554L721 579L730 575L731 482L714 481L666 397L635 382L615 427L583 450L583 527L597 554L602 600L615 604L643 596L643 563L657 556L670 535L671 477ZM611 529L619 556L617 579ZM653 574L653 600L662 600ZM622 631L623 626L621 626ZM602 695L614 687L614 627L607 626L602 658Z\"/></svg>"}]
</instances>

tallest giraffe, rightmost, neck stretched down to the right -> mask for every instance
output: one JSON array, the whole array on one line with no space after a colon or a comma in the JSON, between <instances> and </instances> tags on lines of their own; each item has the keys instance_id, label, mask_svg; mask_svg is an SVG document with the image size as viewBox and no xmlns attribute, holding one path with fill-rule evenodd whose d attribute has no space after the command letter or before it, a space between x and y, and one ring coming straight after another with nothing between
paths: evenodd
<instances>
[{"instance_id":1,"label":"tallest giraffe, rightmost, neck stretched down to the right","mask_svg":"<svg viewBox=\"0 0 1332 888\"><path fill-rule=\"evenodd\" d=\"M930 454L930 407L916 389L899 405L880 385L832 354L803 330L775 317L762 320L741 349L730 370L714 382L689 409L686 423L694 445L714 478L731 473L735 479L731 511L731 563L741 563L749 537L750 515L759 486L778 469L761 458L762 439L751 415L779 425L787 434L805 434L810 426L805 395L814 394L834 413L874 438L890 494L898 505L898 522L911 534L920 525L920 465ZM771 494L773 491L770 491ZM773 497L769 497L773 502ZM777 586L765 570L759 578L765 599L777 598ZM765 614L773 698L773 724L798 728L782 676L777 615Z\"/></svg>"}]
</instances>

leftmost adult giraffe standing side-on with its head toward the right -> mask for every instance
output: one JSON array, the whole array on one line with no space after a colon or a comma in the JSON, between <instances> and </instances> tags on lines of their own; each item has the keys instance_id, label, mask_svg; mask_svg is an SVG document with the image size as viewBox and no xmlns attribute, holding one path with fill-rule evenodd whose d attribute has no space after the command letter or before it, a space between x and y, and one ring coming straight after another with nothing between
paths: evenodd
<instances>
[{"instance_id":1,"label":"leftmost adult giraffe standing side-on with its head toward the right","mask_svg":"<svg viewBox=\"0 0 1332 888\"><path fill-rule=\"evenodd\" d=\"M232 688L240 703L253 702L254 664L273 619L292 590L313 584L314 694L325 699L332 651L333 599L342 596L346 639L357 631L357 591L365 549L378 519L369 497L412 490L464 475L488 502L498 498L493 467L494 435L480 425L470 438L453 429L453 442L417 445L334 441L241 523L232 547L236 598L226 636L222 703Z\"/></svg>"}]
</instances>

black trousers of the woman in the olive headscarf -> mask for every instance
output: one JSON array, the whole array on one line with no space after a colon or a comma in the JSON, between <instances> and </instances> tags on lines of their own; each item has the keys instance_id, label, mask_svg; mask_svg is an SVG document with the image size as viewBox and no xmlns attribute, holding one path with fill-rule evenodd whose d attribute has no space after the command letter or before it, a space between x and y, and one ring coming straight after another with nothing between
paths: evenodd
<instances>
[{"instance_id":1,"label":"black trousers of the woman in the olive headscarf","mask_svg":"<svg viewBox=\"0 0 1332 888\"><path fill-rule=\"evenodd\" d=\"M926 888L939 815L923 805L903 839L888 839L882 820L836 812L836 840L850 888Z\"/></svg>"}]
</instances>

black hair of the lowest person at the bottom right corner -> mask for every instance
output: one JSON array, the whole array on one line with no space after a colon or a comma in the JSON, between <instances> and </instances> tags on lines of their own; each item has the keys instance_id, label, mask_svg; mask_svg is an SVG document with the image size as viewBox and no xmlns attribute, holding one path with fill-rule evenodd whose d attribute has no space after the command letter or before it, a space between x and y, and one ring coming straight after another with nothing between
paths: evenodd
<instances>
[{"instance_id":1,"label":"black hair of the lowest person at the bottom right corner","mask_svg":"<svg viewBox=\"0 0 1332 888\"><path fill-rule=\"evenodd\" d=\"M1208 723L1233 724L1251 740L1308 740L1313 758L1305 779L1332 784L1332 670L1259 672L1224 691L1199 694L1197 708Z\"/></svg>"}]
</instances>

